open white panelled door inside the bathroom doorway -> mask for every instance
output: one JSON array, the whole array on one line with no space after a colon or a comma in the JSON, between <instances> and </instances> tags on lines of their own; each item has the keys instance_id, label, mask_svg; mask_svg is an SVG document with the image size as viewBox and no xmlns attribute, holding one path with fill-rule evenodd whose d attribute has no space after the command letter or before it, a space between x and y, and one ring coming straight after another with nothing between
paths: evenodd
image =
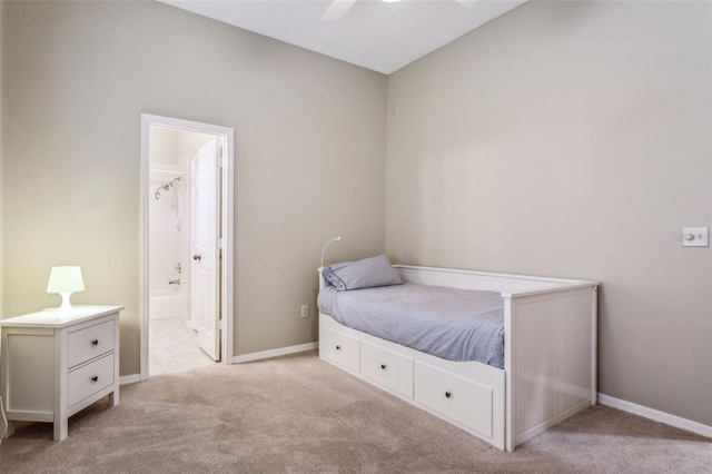
<instances>
[{"instance_id":1,"label":"open white panelled door inside the bathroom doorway","mask_svg":"<svg viewBox=\"0 0 712 474\"><path fill-rule=\"evenodd\" d=\"M191 162L191 320L198 330L198 345L215 361L220 359L219 288L220 220L219 138L204 145Z\"/></svg>"}]
</instances>

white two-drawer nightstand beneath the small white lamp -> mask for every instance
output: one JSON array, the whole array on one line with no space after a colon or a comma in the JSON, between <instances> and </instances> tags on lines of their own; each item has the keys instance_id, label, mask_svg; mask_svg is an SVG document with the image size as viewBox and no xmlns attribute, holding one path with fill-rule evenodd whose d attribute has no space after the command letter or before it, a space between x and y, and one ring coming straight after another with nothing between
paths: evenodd
<instances>
[{"instance_id":1,"label":"white two-drawer nightstand beneath the small white lamp","mask_svg":"<svg viewBox=\"0 0 712 474\"><path fill-rule=\"evenodd\" d=\"M119 403L119 312L123 306L75 306L0 319L0 396L10 422L55 423L109 395Z\"/></svg>"}]
</instances>

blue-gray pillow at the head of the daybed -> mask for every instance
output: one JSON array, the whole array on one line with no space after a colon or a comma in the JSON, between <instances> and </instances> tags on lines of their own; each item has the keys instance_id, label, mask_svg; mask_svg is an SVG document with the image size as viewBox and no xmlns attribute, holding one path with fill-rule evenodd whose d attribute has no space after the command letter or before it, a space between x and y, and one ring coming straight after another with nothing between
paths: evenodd
<instances>
[{"instance_id":1,"label":"blue-gray pillow at the head of the daybed","mask_svg":"<svg viewBox=\"0 0 712 474\"><path fill-rule=\"evenodd\" d=\"M403 283L396 270L390 266L388 257L383 254L358 261L329 265L322 270L322 275L338 292L400 285Z\"/></svg>"}]
</instances>

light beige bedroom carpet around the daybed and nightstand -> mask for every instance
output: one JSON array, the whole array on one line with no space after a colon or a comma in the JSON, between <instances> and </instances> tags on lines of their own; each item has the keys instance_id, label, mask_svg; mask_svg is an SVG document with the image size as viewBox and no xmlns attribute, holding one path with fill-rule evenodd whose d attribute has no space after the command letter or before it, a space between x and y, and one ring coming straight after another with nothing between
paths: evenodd
<instances>
[{"instance_id":1,"label":"light beige bedroom carpet around the daybed and nightstand","mask_svg":"<svg viewBox=\"0 0 712 474\"><path fill-rule=\"evenodd\" d=\"M196 368L121 387L51 441L18 423L2 473L710 473L712 440L595 406L493 448L319 361Z\"/></svg>"}]
</instances>

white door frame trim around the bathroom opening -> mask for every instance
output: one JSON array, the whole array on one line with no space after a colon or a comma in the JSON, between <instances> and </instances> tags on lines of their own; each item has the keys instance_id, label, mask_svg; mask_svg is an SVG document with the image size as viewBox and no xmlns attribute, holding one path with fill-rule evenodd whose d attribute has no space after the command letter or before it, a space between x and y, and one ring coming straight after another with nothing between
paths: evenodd
<instances>
[{"instance_id":1,"label":"white door frame trim around the bathroom opening","mask_svg":"<svg viewBox=\"0 0 712 474\"><path fill-rule=\"evenodd\" d=\"M222 177L221 177L221 208L220 220L222 228L222 257L220 258L220 318L222 319L220 335L220 357L222 364L233 363L233 328L234 328L234 243L235 243L235 213L234 213L234 169L235 169L235 131L233 128L197 121L176 119L170 117L141 113L141 223L140 223L140 379L148 379L148 226L149 226L149 131L151 126L174 128L184 131L199 131L221 137L225 145L222 150Z\"/></svg>"}]
</instances>

